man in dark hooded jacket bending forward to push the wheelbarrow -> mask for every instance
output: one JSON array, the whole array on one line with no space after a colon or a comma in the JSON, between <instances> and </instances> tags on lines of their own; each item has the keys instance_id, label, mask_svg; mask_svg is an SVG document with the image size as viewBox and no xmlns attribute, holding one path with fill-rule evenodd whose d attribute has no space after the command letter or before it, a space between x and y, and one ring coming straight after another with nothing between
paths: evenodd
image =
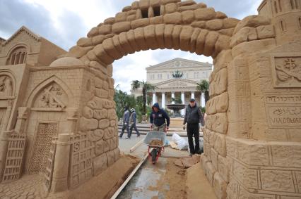
<instances>
[{"instance_id":1,"label":"man in dark hooded jacket bending forward to push the wheelbarrow","mask_svg":"<svg viewBox=\"0 0 301 199\"><path fill-rule=\"evenodd\" d=\"M158 103L154 103L150 115L151 130L166 132L170 127L170 117L165 110L160 108Z\"/></svg>"}]
</instances>

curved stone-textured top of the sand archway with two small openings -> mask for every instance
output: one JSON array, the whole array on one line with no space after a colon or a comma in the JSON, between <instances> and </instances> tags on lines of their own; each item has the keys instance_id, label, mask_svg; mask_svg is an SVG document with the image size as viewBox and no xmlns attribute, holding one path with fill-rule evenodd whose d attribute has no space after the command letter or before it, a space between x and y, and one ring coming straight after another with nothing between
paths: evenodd
<instances>
[{"instance_id":1,"label":"curved stone-textured top of the sand archway with two small openings","mask_svg":"<svg viewBox=\"0 0 301 199\"><path fill-rule=\"evenodd\" d=\"M180 49L216 58L230 49L230 37L239 20L194 1L135 1L114 18L93 27L68 56L110 65L129 53L148 49Z\"/></svg>"}]
</instances>

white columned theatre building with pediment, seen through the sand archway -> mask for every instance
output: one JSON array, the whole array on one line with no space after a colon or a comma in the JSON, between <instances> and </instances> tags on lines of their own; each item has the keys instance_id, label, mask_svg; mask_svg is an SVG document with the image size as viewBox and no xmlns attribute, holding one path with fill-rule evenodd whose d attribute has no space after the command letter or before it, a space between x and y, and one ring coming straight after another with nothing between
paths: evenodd
<instances>
[{"instance_id":1,"label":"white columned theatre building with pediment, seen through the sand archway","mask_svg":"<svg viewBox=\"0 0 301 199\"><path fill-rule=\"evenodd\" d=\"M208 80L212 69L211 63L183 58L149 66L146 68L146 82L155 86L153 91L147 92L151 97L151 104L158 102L162 108L166 108L167 104L174 103L172 98L181 98L185 104L189 103L190 98L195 98L196 103L204 107L204 94L196 90L196 84L203 79ZM131 91L131 94L139 96L142 89Z\"/></svg>"}]
</instances>

